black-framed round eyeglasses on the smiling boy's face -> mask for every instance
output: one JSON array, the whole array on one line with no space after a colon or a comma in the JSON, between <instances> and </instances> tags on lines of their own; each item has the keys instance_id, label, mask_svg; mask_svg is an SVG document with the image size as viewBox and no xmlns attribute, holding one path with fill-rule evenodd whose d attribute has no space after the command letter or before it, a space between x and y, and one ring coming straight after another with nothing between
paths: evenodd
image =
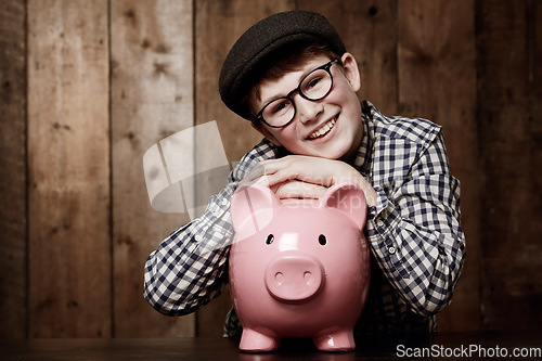
<instances>
[{"instance_id":1,"label":"black-framed round eyeglasses on the smiling boy's face","mask_svg":"<svg viewBox=\"0 0 542 361\"><path fill-rule=\"evenodd\" d=\"M280 96L267 103L256 115L256 119L263 121L271 128L286 127L296 116L296 104L292 95L298 91L301 98L312 102L327 96L333 88L331 67L336 62L337 60L333 60L307 74L299 86L286 96Z\"/></svg>"}]
</instances>

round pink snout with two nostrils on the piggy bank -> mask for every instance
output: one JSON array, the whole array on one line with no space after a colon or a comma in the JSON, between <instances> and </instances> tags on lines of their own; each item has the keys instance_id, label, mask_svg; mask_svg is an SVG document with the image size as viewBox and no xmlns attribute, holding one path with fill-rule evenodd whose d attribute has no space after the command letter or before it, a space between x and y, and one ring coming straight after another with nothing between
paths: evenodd
<instances>
[{"instance_id":1,"label":"round pink snout with two nostrils on the piggy bank","mask_svg":"<svg viewBox=\"0 0 542 361\"><path fill-rule=\"evenodd\" d=\"M322 263L309 255L282 256L266 269L266 287L281 301L304 301L314 296L323 286Z\"/></svg>"}]
</instances>

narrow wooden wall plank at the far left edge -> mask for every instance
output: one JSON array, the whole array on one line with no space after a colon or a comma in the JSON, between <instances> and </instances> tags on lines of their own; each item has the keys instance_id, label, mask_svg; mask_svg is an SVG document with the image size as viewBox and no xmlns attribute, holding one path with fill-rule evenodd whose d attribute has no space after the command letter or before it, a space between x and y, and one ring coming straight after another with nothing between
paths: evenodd
<instances>
[{"instance_id":1,"label":"narrow wooden wall plank at the far left edge","mask_svg":"<svg viewBox=\"0 0 542 361\"><path fill-rule=\"evenodd\" d=\"M0 338L26 336L25 4L0 2Z\"/></svg>"}]
</instances>

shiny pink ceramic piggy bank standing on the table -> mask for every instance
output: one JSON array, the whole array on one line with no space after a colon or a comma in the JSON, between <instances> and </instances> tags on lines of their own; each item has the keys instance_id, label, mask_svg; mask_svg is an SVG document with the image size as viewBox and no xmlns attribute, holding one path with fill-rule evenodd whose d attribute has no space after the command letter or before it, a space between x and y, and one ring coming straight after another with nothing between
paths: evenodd
<instances>
[{"instance_id":1,"label":"shiny pink ceramic piggy bank standing on the table","mask_svg":"<svg viewBox=\"0 0 542 361\"><path fill-rule=\"evenodd\" d=\"M354 183L319 201L281 202L260 184L235 192L229 275L241 350L271 351L284 337L312 338L324 351L356 348L370 282L365 215Z\"/></svg>"}]
</instances>

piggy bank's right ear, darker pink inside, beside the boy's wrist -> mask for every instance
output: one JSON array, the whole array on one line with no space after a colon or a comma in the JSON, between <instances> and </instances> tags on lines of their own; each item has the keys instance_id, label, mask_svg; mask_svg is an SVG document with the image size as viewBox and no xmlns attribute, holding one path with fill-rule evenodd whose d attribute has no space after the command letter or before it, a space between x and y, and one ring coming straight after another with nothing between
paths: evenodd
<instances>
[{"instance_id":1,"label":"piggy bank's right ear, darker pink inside, beside the boy's wrist","mask_svg":"<svg viewBox=\"0 0 542 361\"><path fill-rule=\"evenodd\" d=\"M360 230L365 224L367 212L365 194L353 182L344 182L331 186L320 198L320 205L344 211Z\"/></svg>"}]
</instances>

